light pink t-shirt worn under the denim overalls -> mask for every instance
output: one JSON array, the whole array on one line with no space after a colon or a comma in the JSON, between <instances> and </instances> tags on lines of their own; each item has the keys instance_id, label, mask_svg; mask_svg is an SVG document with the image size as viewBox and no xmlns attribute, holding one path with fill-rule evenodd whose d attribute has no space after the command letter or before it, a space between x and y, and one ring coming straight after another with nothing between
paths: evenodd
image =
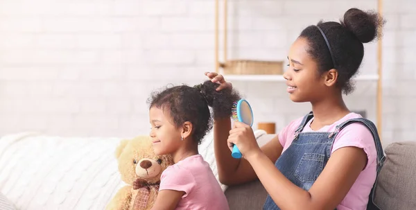
<instances>
[{"instance_id":1,"label":"light pink t-shirt worn under the denim overalls","mask_svg":"<svg viewBox=\"0 0 416 210\"><path fill-rule=\"evenodd\" d=\"M344 116L343 119L336 121L332 125L326 125L320 130L311 129L311 122L313 121L312 119L305 125L305 128L302 130L302 132L333 132L336 125L339 125L348 119L359 117L361 117L360 114L351 112ZM289 123L289 125L286 126L286 128L279 132L279 141L281 146L283 146L283 151L291 146L293 137L295 135L295 130L297 130L300 123L302 123L302 119L303 117L292 121ZM368 196L370 195L370 191L376 180L377 152L372 133L362 123L352 123L347 125L338 133L335 140L333 141L331 153L335 150L338 150L339 148L347 146L362 148L364 152L367 153L368 161L364 170L362 170L360 175L358 175L356 182L349 190L344 200L338 205L337 209L366 209L369 198Z\"/></svg>"}]
</instances>

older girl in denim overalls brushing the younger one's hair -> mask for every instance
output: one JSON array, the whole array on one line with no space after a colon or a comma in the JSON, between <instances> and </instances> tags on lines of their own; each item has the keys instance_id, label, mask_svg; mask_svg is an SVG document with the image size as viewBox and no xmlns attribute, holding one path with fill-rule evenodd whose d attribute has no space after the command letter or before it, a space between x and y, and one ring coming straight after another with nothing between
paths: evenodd
<instances>
[{"instance_id":1,"label":"older girl in denim overalls brushing the younger one's hair","mask_svg":"<svg viewBox=\"0 0 416 210\"><path fill-rule=\"evenodd\" d=\"M216 118L214 143L223 184L259 179L268 191L264 209L363 210L374 207L372 192L383 164L374 124L350 112L343 93L363 60L363 43L377 37L383 20L356 8L340 23L308 26L288 52L284 73L289 97L310 102L312 111L289 123L259 148L248 125ZM206 73L218 89L230 89L223 76ZM232 158L236 144L245 158Z\"/></svg>"}]
</instances>

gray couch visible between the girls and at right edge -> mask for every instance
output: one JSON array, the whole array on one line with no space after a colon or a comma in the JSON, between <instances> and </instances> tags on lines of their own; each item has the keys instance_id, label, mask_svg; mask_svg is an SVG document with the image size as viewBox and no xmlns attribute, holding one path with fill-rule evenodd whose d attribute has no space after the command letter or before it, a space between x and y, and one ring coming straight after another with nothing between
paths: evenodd
<instances>
[{"instance_id":1,"label":"gray couch visible between the girls and at right edge","mask_svg":"<svg viewBox=\"0 0 416 210\"><path fill-rule=\"evenodd\" d=\"M273 135L258 139L264 145ZM382 210L416 209L416 141L384 146L385 164L376 182L375 202ZM261 209L267 192L259 181L230 186L225 191L231 210Z\"/></svg>"}]
</instances>

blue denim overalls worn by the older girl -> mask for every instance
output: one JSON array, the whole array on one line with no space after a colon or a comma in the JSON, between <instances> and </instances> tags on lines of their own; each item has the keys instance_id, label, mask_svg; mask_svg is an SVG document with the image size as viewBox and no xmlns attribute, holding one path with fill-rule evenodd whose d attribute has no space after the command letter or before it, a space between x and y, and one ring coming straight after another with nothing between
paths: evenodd
<instances>
[{"instance_id":1,"label":"blue denim overalls worn by the older girl","mask_svg":"<svg viewBox=\"0 0 416 210\"><path fill-rule=\"evenodd\" d=\"M291 146L285 150L277 159L275 166L280 170L283 175L291 180L293 184L301 187L302 189L309 191L312 184L318 178L325 165L331 157L331 148L333 140L336 135L343 130L345 126L351 123L363 123L367 128L370 129L374 137L374 143L377 150L377 177L381 166L384 163L384 153L381 147L379 134L377 133L376 126L367 119L349 119L344 123L336 126L334 132L302 132L306 123L308 123L313 117L312 112L304 116L302 123L295 132L295 139L291 143ZM375 185L375 184L374 184ZM370 193L370 200L367 205L367 209L376 208L371 202L373 200L373 191ZM263 209L279 209L275 202L270 198L270 195L266 198L266 203Z\"/></svg>"}]
</instances>

